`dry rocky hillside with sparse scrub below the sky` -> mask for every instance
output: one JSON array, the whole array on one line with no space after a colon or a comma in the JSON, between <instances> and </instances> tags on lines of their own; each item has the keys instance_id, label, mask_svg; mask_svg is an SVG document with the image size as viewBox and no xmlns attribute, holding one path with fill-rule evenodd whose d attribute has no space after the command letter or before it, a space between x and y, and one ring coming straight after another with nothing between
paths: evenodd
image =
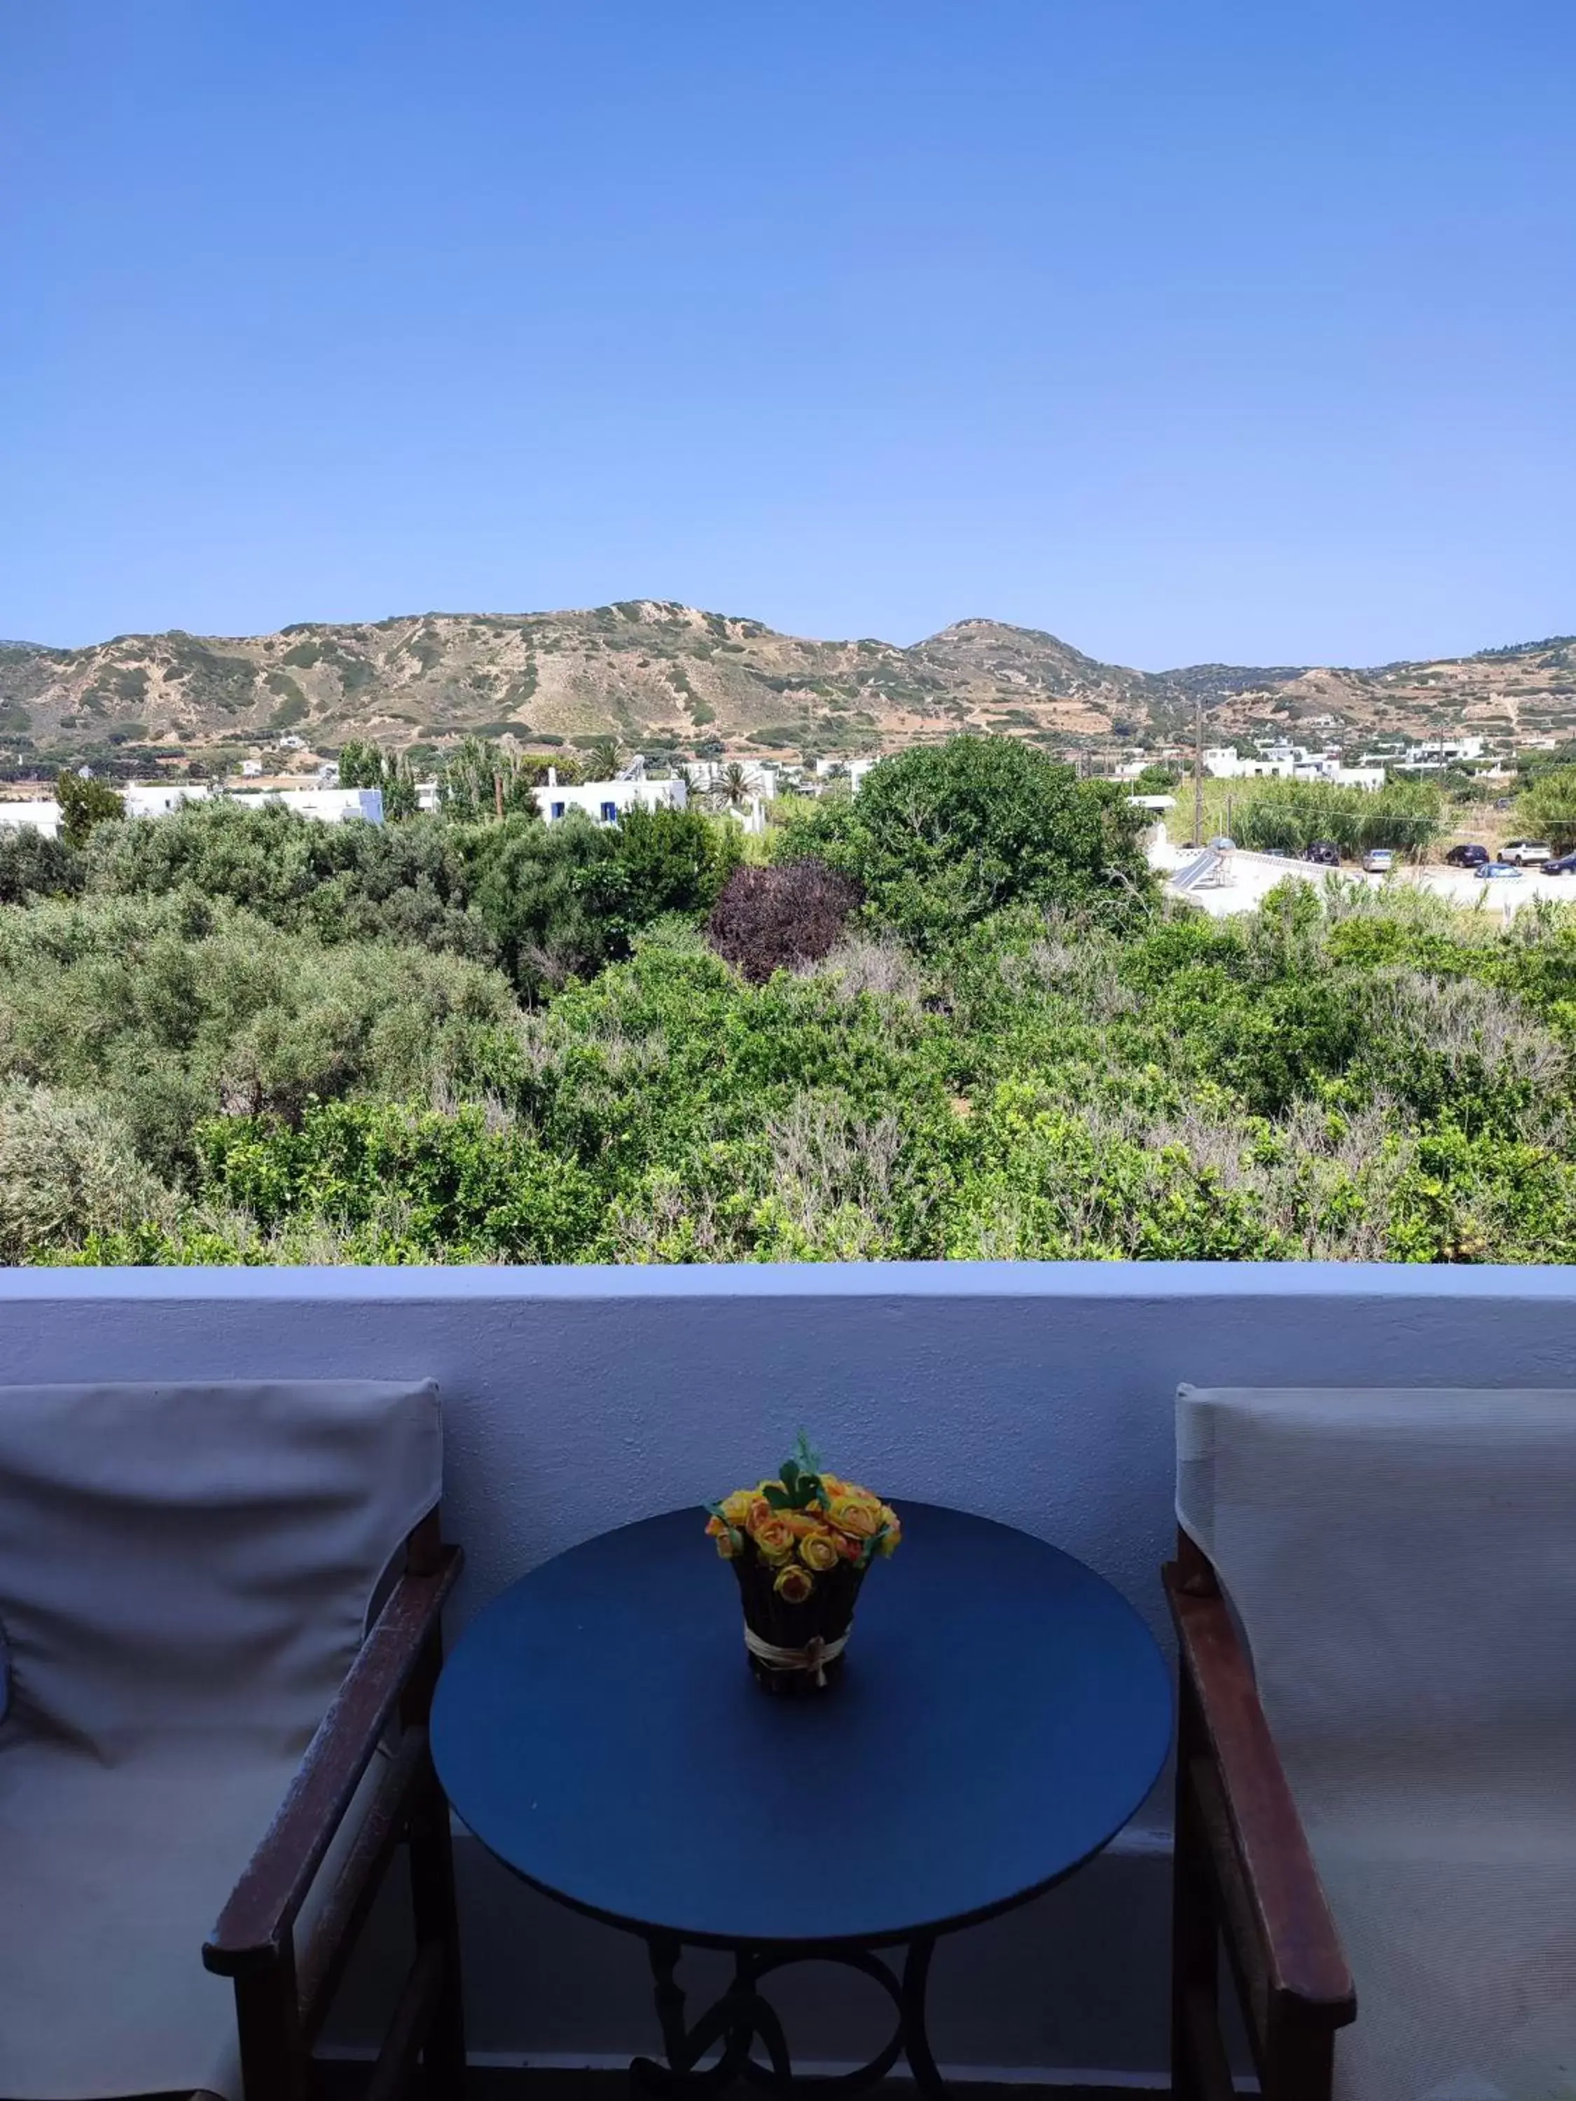
<instances>
[{"instance_id":1,"label":"dry rocky hillside with sparse scrub below the sky","mask_svg":"<svg viewBox=\"0 0 1576 2101\"><path fill-rule=\"evenodd\" d=\"M1305 740L1576 729L1576 637L1376 670L1196 664L1126 670L994 620L899 649L775 635L654 599L572 613L424 613L214 639L120 635L90 649L0 643L0 752L118 746L313 750L351 735L441 746L464 731L523 742L614 733L647 752L870 752L956 729L1059 750L1290 729ZM151 752L149 752L151 756Z\"/></svg>"}]
</instances>

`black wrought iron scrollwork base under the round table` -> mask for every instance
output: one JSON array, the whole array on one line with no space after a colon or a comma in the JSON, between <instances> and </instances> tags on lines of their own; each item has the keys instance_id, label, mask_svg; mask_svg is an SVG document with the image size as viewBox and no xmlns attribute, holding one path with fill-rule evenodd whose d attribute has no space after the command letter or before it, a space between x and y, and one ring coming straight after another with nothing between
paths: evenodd
<instances>
[{"instance_id":1,"label":"black wrought iron scrollwork base under the round table","mask_svg":"<svg viewBox=\"0 0 1576 2101\"><path fill-rule=\"evenodd\" d=\"M820 2095L857 2095L885 2080L897 2059L906 2057L920 2095L927 2095L929 2101L946 2097L948 2088L935 2067L931 2038L925 2032L925 1985L931 1975L931 1956L935 1954L933 1935L908 1943L901 1977L880 1956L836 1941L826 1946L794 1946L788 1952L735 1948L733 1983L693 2027L685 2025L685 1994L677 1977L683 1941L668 1935L651 1935L647 1948L651 1954L651 1977L656 1979L658 2019L662 2021L662 2048L668 2057L666 2065L660 2065L651 2057L637 2057L630 2065L637 2086L643 2086L647 2093L704 2097L731 2086L735 2080L750 2080L752 2086L763 2086L773 2095L794 2095L801 2086L809 2084ZM897 2025L885 2048L868 2065L843 2072L836 2078L805 2080L794 2074L784 2025L777 2019L775 2006L761 1992L763 1979L773 1971L788 1969L792 1962L841 1962L845 1969L859 1971L862 1977L874 1977L887 1998L891 1998ZM761 2063L754 2057L756 2042L765 2048L769 2063ZM717 2061L698 2069L702 2057L719 2048L719 2044L721 2055Z\"/></svg>"}]
</instances>

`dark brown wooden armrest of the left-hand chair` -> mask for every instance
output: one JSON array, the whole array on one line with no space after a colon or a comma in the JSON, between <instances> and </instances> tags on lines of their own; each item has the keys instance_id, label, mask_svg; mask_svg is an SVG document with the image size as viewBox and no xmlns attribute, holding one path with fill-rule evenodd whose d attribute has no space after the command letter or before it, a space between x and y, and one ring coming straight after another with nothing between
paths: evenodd
<instances>
[{"instance_id":1,"label":"dark brown wooden armrest of the left-hand chair","mask_svg":"<svg viewBox=\"0 0 1576 2101\"><path fill-rule=\"evenodd\" d=\"M406 1572L395 1584L204 1941L204 1969L237 1977L277 1958L458 1574L460 1548L445 1546L431 1574Z\"/></svg>"}]
</instances>

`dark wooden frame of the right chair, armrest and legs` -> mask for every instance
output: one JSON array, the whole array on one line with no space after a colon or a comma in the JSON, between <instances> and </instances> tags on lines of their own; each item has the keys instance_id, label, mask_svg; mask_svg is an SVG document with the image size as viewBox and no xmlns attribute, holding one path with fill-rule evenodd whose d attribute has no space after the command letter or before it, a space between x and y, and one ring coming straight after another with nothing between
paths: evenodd
<instances>
[{"instance_id":1,"label":"dark wooden frame of the right chair, armrest and legs","mask_svg":"<svg viewBox=\"0 0 1576 2101\"><path fill-rule=\"evenodd\" d=\"M1328 2101L1357 2017L1341 1937L1208 1555L1177 1532L1177 1822L1170 1943L1175 2101L1229 2101L1221 1948L1265 2101Z\"/></svg>"}]
</instances>

